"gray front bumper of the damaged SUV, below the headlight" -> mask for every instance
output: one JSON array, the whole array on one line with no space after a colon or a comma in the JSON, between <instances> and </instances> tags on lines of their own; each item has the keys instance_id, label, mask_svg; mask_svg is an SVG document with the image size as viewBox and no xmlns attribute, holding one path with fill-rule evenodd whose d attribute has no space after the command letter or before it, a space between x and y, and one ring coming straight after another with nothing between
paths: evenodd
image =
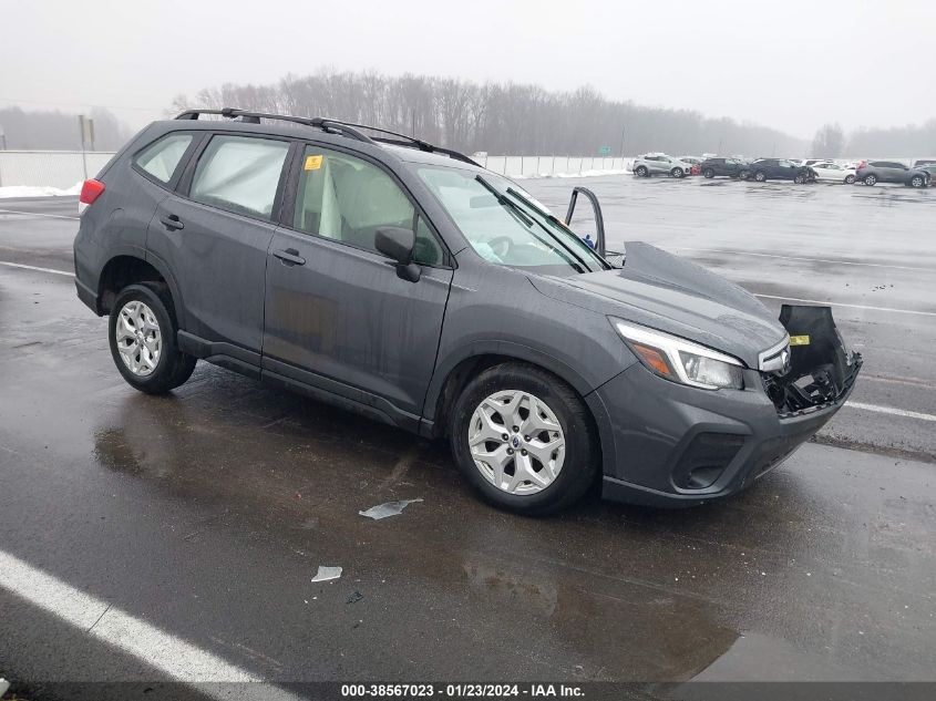
<instances>
[{"instance_id":1,"label":"gray front bumper of the damaged SUV, below the headlight","mask_svg":"<svg viewBox=\"0 0 936 701\"><path fill-rule=\"evenodd\" d=\"M755 370L744 371L744 390L707 391L635 364L595 391L609 419L603 446L613 441L615 456L606 461L601 495L679 507L733 494L780 465L839 411L860 367L861 360L834 401L781 415Z\"/></svg>"}]
</instances>

